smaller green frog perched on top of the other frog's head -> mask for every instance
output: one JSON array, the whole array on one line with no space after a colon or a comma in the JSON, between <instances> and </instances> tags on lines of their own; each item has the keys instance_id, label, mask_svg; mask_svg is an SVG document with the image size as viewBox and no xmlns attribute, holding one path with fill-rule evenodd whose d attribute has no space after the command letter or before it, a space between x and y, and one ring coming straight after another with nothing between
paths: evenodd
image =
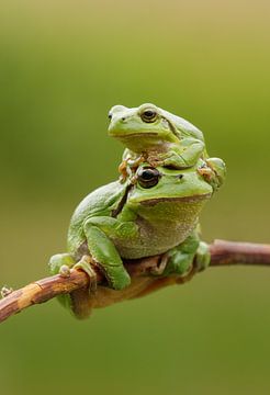
<instances>
[{"instance_id":1,"label":"smaller green frog perched on top of the other frog's head","mask_svg":"<svg viewBox=\"0 0 270 395\"><path fill-rule=\"evenodd\" d=\"M146 116L149 111L153 117ZM193 167L201 158L206 165L202 174L212 187L216 189L223 183L225 163L209 158L202 132L190 122L150 103L133 109L114 105L109 117L109 135L126 147L120 167L124 176L136 169L140 158L151 166L173 169Z\"/></svg>"}]
</instances>

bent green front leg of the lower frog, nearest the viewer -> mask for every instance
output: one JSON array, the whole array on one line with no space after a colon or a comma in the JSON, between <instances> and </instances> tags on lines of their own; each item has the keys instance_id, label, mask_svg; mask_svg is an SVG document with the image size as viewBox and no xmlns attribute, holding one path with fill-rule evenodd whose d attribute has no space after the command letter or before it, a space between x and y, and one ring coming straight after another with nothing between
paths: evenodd
<instances>
[{"instance_id":1,"label":"bent green front leg of the lower frog, nearest the viewer","mask_svg":"<svg viewBox=\"0 0 270 395\"><path fill-rule=\"evenodd\" d=\"M95 216L85 222L83 232L90 255L104 273L109 285L114 290L130 285L131 278L112 240L133 237L137 233L136 225L133 222Z\"/></svg>"}]
</instances>

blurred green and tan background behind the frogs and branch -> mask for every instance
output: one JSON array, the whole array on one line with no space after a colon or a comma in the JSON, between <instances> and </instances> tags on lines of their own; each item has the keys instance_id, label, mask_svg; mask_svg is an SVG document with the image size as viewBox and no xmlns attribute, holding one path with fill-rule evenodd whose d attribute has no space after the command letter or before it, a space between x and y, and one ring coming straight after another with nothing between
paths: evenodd
<instances>
[{"instance_id":1,"label":"blurred green and tan background behind the frogs and branch","mask_svg":"<svg viewBox=\"0 0 270 395\"><path fill-rule=\"evenodd\" d=\"M228 167L204 239L269 242L270 3L2 0L0 283L47 275L74 207L117 177L114 104L181 115ZM56 301L0 328L0 393L269 394L270 272L209 269L75 320Z\"/></svg>"}]
</instances>

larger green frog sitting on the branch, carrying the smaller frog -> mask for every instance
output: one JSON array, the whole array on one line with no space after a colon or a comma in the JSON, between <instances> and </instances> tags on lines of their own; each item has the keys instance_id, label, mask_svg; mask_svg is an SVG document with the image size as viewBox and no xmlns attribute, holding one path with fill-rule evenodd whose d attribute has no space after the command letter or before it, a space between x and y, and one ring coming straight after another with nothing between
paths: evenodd
<instances>
[{"instance_id":1,"label":"larger green frog sitting on the branch, carrying the smaller frog","mask_svg":"<svg viewBox=\"0 0 270 395\"><path fill-rule=\"evenodd\" d=\"M155 172L150 181L146 177L149 171ZM168 252L161 275L189 272L195 256L203 269L210 253L199 238L198 216L212 193L212 185L193 168L149 169L143 163L132 181L109 183L82 200L71 217L68 252L50 258L50 272L76 266L91 278L91 266L86 260L91 256L109 286L122 290L131 283L123 258ZM61 301L70 306L68 295Z\"/></svg>"}]
</instances>

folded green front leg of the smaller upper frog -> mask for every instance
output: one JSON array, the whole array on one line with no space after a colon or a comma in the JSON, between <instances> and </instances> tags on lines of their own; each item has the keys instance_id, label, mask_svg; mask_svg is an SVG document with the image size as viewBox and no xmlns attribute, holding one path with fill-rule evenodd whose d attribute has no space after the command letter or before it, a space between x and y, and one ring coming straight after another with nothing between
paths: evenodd
<instances>
[{"instance_id":1,"label":"folded green front leg of the smaller upper frog","mask_svg":"<svg viewBox=\"0 0 270 395\"><path fill-rule=\"evenodd\" d=\"M162 154L164 166L176 169L185 169L194 166L204 151L204 143L201 140L183 140L181 148L176 146L169 153Z\"/></svg>"}]
</instances>

